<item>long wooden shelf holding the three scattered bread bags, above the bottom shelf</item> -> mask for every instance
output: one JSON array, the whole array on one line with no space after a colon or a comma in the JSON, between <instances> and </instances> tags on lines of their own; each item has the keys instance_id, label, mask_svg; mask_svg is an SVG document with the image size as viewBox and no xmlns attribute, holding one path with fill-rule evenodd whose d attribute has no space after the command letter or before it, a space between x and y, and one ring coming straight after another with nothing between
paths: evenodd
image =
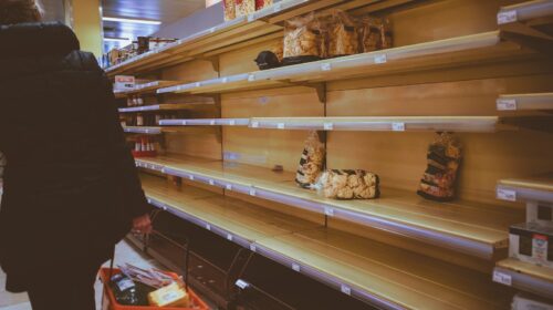
<instances>
[{"instance_id":1,"label":"long wooden shelf holding the three scattered bread bags, above the bottom shelf","mask_svg":"<svg viewBox=\"0 0 553 310\"><path fill-rule=\"evenodd\" d=\"M383 188L382 198L335 200L299 188L293 173L234 163L177 159L170 156L137 158L139 167L218 186L258 198L286 204L330 217L491 259L508 246L508 227L523 220L522 211L465 202L435 203L414 192Z\"/></svg>"}]
</instances>

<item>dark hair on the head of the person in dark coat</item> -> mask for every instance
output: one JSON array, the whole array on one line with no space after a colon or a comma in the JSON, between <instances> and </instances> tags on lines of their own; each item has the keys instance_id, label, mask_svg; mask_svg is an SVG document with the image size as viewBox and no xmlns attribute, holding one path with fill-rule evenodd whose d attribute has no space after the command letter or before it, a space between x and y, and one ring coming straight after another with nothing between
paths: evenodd
<instances>
[{"instance_id":1,"label":"dark hair on the head of the person in dark coat","mask_svg":"<svg viewBox=\"0 0 553 310\"><path fill-rule=\"evenodd\" d=\"M0 24L39 22L42 13L39 0L0 0Z\"/></svg>"}]
</instances>

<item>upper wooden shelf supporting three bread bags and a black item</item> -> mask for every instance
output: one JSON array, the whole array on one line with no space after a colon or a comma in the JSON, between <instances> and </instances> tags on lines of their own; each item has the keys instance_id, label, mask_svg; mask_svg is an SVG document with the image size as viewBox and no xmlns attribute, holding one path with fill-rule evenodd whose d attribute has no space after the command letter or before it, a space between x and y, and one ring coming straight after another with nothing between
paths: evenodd
<instances>
[{"instance_id":1,"label":"upper wooden shelf supporting three bread bags and a black item","mask_svg":"<svg viewBox=\"0 0 553 310\"><path fill-rule=\"evenodd\" d=\"M321 101L325 101L324 87L320 83L326 81L500 62L531 54L535 53L502 40L499 31L491 31L186 83L159 89L157 92L210 94L301 85L315 89Z\"/></svg>"}]
</instances>

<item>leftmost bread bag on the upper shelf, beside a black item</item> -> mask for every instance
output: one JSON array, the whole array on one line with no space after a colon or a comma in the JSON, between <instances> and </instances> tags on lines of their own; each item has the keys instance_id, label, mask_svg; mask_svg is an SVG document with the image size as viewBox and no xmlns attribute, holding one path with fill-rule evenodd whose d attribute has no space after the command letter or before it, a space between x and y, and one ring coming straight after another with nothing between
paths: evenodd
<instances>
[{"instance_id":1,"label":"leftmost bread bag on the upper shelf, beside a black item","mask_svg":"<svg viewBox=\"0 0 553 310\"><path fill-rule=\"evenodd\" d=\"M283 64L321 59L321 22L314 13L288 20L284 25Z\"/></svg>"}]
</instances>

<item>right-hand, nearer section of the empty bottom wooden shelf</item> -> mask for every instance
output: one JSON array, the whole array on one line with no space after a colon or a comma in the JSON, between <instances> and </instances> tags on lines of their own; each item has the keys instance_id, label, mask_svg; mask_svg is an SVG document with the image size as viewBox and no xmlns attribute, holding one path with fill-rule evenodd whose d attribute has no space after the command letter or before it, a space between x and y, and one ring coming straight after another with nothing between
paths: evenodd
<instances>
[{"instance_id":1,"label":"right-hand, nearer section of the empty bottom wooden shelf","mask_svg":"<svg viewBox=\"0 0 553 310\"><path fill-rule=\"evenodd\" d=\"M484 275L324 228L255 251L380 309L507 309L512 298Z\"/></svg>"}]
</instances>

